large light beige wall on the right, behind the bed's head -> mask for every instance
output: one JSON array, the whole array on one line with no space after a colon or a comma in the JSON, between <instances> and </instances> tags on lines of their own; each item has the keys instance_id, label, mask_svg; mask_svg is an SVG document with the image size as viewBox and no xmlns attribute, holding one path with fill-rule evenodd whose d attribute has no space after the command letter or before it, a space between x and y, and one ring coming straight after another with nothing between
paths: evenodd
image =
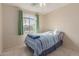
<instances>
[{"instance_id":1,"label":"large light beige wall on the right, behind the bed's head","mask_svg":"<svg viewBox=\"0 0 79 59\"><path fill-rule=\"evenodd\" d=\"M45 15L44 31L62 30L79 46L79 4L69 4Z\"/></svg>"}]
</instances>

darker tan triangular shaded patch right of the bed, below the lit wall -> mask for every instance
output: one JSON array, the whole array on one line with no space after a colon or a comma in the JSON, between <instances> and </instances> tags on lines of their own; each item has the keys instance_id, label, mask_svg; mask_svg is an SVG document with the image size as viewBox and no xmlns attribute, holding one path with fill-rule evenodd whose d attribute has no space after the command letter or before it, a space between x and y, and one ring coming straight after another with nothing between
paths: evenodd
<instances>
[{"instance_id":1,"label":"darker tan triangular shaded patch right of the bed, below the lit wall","mask_svg":"<svg viewBox=\"0 0 79 59\"><path fill-rule=\"evenodd\" d=\"M64 33L63 41L64 41L63 46L65 48L79 50L79 47L75 45L75 43L72 41L72 39L69 38L69 36L67 36L66 33Z\"/></svg>"}]
</instances>

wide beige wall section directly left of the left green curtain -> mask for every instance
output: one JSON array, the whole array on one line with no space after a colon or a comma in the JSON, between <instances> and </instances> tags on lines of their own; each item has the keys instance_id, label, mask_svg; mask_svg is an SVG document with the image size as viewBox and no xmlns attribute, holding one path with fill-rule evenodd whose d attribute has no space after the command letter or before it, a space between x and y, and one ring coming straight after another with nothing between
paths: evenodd
<instances>
[{"instance_id":1,"label":"wide beige wall section directly left of the left green curtain","mask_svg":"<svg viewBox=\"0 0 79 59\"><path fill-rule=\"evenodd\" d=\"M18 8L3 4L3 49L24 45L25 35L18 36ZM40 16L42 19L42 16ZM42 24L41 20L40 23ZM42 26L40 26L42 27Z\"/></svg>"}]
</instances>

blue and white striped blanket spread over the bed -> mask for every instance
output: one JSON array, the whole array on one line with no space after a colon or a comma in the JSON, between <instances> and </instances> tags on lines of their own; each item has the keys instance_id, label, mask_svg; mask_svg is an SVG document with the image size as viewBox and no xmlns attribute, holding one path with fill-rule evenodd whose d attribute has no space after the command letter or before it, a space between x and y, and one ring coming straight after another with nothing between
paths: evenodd
<instances>
[{"instance_id":1,"label":"blue and white striped blanket spread over the bed","mask_svg":"<svg viewBox=\"0 0 79 59\"><path fill-rule=\"evenodd\" d=\"M30 37L30 36L34 37ZM54 46L59 42L59 33L54 34L53 32L45 32L40 34L28 34L25 39L25 44L34 50L35 56L40 55L44 50Z\"/></svg>"}]
</instances>

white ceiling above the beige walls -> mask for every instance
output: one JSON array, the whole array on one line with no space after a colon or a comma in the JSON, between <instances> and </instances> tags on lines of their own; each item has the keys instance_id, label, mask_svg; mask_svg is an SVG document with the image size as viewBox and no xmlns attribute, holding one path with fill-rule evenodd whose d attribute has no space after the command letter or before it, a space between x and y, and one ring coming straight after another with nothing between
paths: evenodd
<instances>
[{"instance_id":1,"label":"white ceiling above the beige walls","mask_svg":"<svg viewBox=\"0 0 79 59\"><path fill-rule=\"evenodd\" d=\"M46 6L43 7L40 7L38 4L33 5L33 3L10 3L10 5L19 7L24 10L46 14L54 11L55 9L64 7L68 5L68 3L46 3Z\"/></svg>"}]
</instances>

